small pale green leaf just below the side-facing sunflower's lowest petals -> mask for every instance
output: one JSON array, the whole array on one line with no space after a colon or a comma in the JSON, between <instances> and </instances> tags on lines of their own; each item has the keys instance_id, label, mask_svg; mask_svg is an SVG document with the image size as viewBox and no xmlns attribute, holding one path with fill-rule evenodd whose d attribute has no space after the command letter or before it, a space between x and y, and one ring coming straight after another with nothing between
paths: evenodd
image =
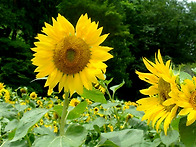
<instances>
[{"instance_id":1,"label":"small pale green leaf just below the side-facing sunflower's lowest petals","mask_svg":"<svg viewBox=\"0 0 196 147\"><path fill-rule=\"evenodd\" d=\"M177 141L179 139L179 133L176 130L168 130L167 135L162 131L160 134L161 141L169 146L171 143Z\"/></svg>"}]
</instances>

